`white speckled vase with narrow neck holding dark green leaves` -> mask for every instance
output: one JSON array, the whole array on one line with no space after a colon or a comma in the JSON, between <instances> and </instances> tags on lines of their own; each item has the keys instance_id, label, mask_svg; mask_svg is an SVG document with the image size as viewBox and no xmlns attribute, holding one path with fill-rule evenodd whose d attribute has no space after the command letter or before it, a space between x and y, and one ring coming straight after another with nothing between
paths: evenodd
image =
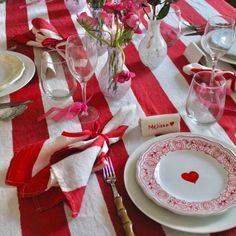
<instances>
[{"instance_id":1,"label":"white speckled vase with narrow neck holding dark green leaves","mask_svg":"<svg viewBox=\"0 0 236 236\"><path fill-rule=\"evenodd\" d=\"M167 45L160 32L160 23L160 20L149 21L148 30L138 47L142 63L151 69L157 68L167 55Z\"/></svg>"}]
</instances>

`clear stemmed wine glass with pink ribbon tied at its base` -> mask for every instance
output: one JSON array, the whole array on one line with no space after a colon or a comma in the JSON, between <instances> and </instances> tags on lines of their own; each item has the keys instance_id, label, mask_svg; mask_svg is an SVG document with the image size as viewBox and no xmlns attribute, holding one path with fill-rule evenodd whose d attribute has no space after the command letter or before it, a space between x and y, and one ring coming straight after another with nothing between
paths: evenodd
<instances>
[{"instance_id":1,"label":"clear stemmed wine glass with pink ribbon tied at its base","mask_svg":"<svg viewBox=\"0 0 236 236\"><path fill-rule=\"evenodd\" d=\"M82 100L87 105L86 87L97 65L96 41L87 33L69 36L66 41L66 62L71 74L80 83ZM85 112L79 114L81 123L90 123L98 119L96 108L87 106Z\"/></svg>"}]
</instances>

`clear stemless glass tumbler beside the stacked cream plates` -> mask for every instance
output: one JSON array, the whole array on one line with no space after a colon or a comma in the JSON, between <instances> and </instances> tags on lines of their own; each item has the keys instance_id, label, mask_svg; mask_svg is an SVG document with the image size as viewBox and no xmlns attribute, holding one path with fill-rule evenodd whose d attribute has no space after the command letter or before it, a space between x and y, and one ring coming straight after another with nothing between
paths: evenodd
<instances>
[{"instance_id":1,"label":"clear stemless glass tumbler beside the stacked cream plates","mask_svg":"<svg viewBox=\"0 0 236 236\"><path fill-rule=\"evenodd\" d=\"M40 82L46 96L55 100L72 96L77 88L66 60L54 49L42 54Z\"/></svg>"}]
</instances>

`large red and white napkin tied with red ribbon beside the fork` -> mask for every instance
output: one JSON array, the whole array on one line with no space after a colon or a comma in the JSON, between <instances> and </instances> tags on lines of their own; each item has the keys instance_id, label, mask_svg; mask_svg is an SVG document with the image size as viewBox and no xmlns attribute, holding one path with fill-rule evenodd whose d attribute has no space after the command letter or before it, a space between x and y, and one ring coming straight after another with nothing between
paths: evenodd
<instances>
[{"instance_id":1,"label":"large red and white napkin tied with red ribbon beside the fork","mask_svg":"<svg viewBox=\"0 0 236 236\"><path fill-rule=\"evenodd\" d=\"M134 112L135 106L124 106L103 129L63 132L24 147L10 163L6 184L18 187L19 197L31 198L36 210L65 201L76 217L90 175L106 165L110 145L122 138Z\"/></svg>"}]
</instances>

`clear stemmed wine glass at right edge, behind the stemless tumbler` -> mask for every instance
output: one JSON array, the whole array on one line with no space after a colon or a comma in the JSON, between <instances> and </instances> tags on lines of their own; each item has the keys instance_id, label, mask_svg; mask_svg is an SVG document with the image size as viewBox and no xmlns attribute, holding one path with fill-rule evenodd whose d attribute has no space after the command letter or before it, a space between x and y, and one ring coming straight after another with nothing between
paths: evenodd
<instances>
[{"instance_id":1,"label":"clear stemmed wine glass at right edge, behind the stemless tumbler","mask_svg":"<svg viewBox=\"0 0 236 236\"><path fill-rule=\"evenodd\" d=\"M218 59L230 49L235 37L235 19L229 16L216 15L209 18L202 37L202 45L212 60L212 78L215 74Z\"/></svg>"}]
</instances>

